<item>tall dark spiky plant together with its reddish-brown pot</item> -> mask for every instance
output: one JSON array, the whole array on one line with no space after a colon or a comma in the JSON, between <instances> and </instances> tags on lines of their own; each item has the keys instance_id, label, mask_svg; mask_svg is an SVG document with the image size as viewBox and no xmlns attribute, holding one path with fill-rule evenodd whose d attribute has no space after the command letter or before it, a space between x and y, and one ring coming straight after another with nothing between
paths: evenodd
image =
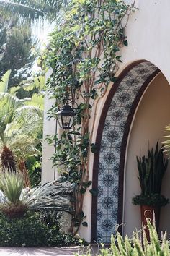
<instances>
[{"instance_id":1,"label":"tall dark spiky plant together with its reddish-brown pot","mask_svg":"<svg viewBox=\"0 0 170 256\"><path fill-rule=\"evenodd\" d=\"M164 158L163 148L158 150L157 142L156 150L154 152L153 148L148 150L147 157L144 155L138 158L137 156L137 163L141 194L133 197L133 204L140 205L143 226L147 225L146 218L150 218L152 222L155 216L158 231L161 207L169 202L169 199L161 195L161 184L168 166L168 160ZM146 236L149 239L147 229Z\"/></svg>"}]
</instances>

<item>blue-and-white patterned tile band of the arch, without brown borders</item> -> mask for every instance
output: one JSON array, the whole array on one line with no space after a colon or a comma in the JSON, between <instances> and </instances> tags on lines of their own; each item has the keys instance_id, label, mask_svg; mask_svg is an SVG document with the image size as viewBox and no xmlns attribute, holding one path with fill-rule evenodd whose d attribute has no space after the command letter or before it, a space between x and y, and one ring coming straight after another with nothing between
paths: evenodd
<instances>
[{"instance_id":1,"label":"blue-and-white patterned tile band of the arch, without brown borders","mask_svg":"<svg viewBox=\"0 0 170 256\"><path fill-rule=\"evenodd\" d=\"M137 64L125 75L109 106L99 152L97 242L110 242L117 227L120 153L125 125L143 83L158 70L150 62Z\"/></svg>"}]
</instances>

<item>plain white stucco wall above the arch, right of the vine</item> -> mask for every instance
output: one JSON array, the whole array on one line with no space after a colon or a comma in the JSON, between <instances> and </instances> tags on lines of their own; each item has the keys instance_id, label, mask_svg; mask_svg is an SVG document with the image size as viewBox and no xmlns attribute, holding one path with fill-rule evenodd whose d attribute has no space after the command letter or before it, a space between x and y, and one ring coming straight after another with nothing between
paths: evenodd
<instances>
[{"instance_id":1,"label":"plain white stucco wall above the arch, right of the vine","mask_svg":"<svg viewBox=\"0 0 170 256\"><path fill-rule=\"evenodd\" d=\"M133 3L133 0L125 0ZM161 69L170 81L169 43L170 27L169 0L136 0L139 9L130 14L125 33L128 47L122 48L122 67L132 61L146 59Z\"/></svg>"}]
</instances>

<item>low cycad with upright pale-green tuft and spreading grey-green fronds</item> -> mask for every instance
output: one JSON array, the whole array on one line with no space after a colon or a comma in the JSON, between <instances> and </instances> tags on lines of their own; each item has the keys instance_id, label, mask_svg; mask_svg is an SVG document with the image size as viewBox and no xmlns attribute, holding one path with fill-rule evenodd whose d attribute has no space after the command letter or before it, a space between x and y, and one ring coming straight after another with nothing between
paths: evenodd
<instances>
[{"instance_id":1,"label":"low cycad with upright pale-green tuft and spreading grey-green fronds","mask_svg":"<svg viewBox=\"0 0 170 256\"><path fill-rule=\"evenodd\" d=\"M28 210L55 210L73 213L70 205L73 189L68 184L48 182L33 189L23 189L23 176L12 172L1 174L0 209L9 216L23 216Z\"/></svg>"}]
</instances>

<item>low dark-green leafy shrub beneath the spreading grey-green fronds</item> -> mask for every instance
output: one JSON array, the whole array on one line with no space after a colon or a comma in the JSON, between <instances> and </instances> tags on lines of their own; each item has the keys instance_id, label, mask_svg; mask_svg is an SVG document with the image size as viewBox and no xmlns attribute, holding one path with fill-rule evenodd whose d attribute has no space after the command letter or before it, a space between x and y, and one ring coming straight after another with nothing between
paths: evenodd
<instances>
[{"instance_id":1,"label":"low dark-green leafy shrub beneath the spreading grey-green fronds","mask_svg":"<svg viewBox=\"0 0 170 256\"><path fill-rule=\"evenodd\" d=\"M46 246L50 229L35 215L24 218L0 216L0 246Z\"/></svg>"}]
</instances>

